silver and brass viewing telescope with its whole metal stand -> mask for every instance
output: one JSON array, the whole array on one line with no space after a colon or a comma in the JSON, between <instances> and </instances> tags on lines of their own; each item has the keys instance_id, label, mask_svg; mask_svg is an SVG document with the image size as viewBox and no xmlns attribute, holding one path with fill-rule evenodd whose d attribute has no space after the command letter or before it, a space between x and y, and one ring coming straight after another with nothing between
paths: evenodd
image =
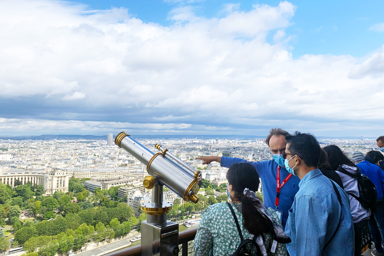
<instances>
[{"instance_id":1,"label":"silver and brass viewing telescope with its whole metal stand","mask_svg":"<svg viewBox=\"0 0 384 256\"><path fill-rule=\"evenodd\" d=\"M125 132L120 132L114 143L123 148L146 165L143 185L152 189L150 202L141 203L141 209L147 214L141 222L141 255L163 256L178 254L178 223L166 219L172 209L172 203L162 201L162 186L166 185L183 200L198 201L196 196L201 186L201 172L178 159L162 148L153 153Z\"/></svg>"}]
</instances>

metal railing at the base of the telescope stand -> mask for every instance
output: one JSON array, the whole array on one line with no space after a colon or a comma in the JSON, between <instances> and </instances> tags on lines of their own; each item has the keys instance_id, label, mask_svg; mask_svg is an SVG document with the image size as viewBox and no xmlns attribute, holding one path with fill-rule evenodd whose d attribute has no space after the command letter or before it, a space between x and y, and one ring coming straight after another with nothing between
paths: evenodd
<instances>
[{"instance_id":1,"label":"metal railing at the base of the telescope stand","mask_svg":"<svg viewBox=\"0 0 384 256\"><path fill-rule=\"evenodd\" d=\"M191 256L193 255L193 239L196 235L197 226L179 232L178 244L181 245L179 256ZM113 252L104 254L103 256L140 256L141 247L140 244L122 248Z\"/></svg>"}]
</instances>

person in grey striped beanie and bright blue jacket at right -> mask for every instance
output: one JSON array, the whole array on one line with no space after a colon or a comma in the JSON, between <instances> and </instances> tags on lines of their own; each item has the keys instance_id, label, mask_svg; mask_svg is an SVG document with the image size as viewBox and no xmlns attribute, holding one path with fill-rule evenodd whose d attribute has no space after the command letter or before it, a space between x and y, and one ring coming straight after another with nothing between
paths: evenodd
<instances>
[{"instance_id":1,"label":"person in grey striped beanie and bright blue jacket at right","mask_svg":"<svg viewBox=\"0 0 384 256\"><path fill-rule=\"evenodd\" d=\"M377 205L373 209L374 217L369 218L369 231L375 245L372 255L384 256L384 250L381 246L381 237L384 236L384 171L376 164L372 164L364 159L360 151L352 154L352 161L361 170L361 173L367 176L376 186Z\"/></svg>"}]
</instances>

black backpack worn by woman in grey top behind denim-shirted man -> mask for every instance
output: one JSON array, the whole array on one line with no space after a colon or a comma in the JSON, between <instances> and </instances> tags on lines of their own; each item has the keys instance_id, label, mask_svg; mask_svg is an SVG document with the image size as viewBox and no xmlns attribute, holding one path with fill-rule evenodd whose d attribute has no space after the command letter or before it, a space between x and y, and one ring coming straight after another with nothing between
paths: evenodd
<instances>
[{"instance_id":1,"label":"black backpack worn by woman in grey top behind denim-shirted man","mask_svg":"<svg viewBox=\"0 0 384 256\"><path fill-rule=\"evenodd\" d=\"M336 171L342 172L346 175L349 175L353 178L357 179L357 187L358 187L358 193L360 196L356 196L355 194L348 193L354 198L356 198L357 201L361 203L361 206L373 209L376 206L377 201L377 192L376 192L376 186L373 184L370 179L365 176L364 174L361 174L361 170L358 168L356 174L352 174L349 171L345 170L341 166L338 166Z\"/></svg>"}]
</instances>

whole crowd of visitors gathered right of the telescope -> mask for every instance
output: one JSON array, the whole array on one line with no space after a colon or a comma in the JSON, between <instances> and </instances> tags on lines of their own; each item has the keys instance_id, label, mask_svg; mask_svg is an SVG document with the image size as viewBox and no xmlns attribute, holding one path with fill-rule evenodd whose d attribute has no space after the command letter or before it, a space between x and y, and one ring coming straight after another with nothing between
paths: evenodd
<instances>
[{"instance_id":1,"label":"whole crowd of visitors gathered right of the telescope","mask_svg":"<svg viewBox=\"0 0 384 256\"><path fill-rule=\"evenodd\" d=\"M203 156L228 167L228 201L203 210L195 255L361 255L363 230L383 255L384 136L350 158L309 133L270 130L271 160ZM381 152L380 152L381 151ZM263 202L255 191L263 188Z\"/></svg>"}]
</instances>

